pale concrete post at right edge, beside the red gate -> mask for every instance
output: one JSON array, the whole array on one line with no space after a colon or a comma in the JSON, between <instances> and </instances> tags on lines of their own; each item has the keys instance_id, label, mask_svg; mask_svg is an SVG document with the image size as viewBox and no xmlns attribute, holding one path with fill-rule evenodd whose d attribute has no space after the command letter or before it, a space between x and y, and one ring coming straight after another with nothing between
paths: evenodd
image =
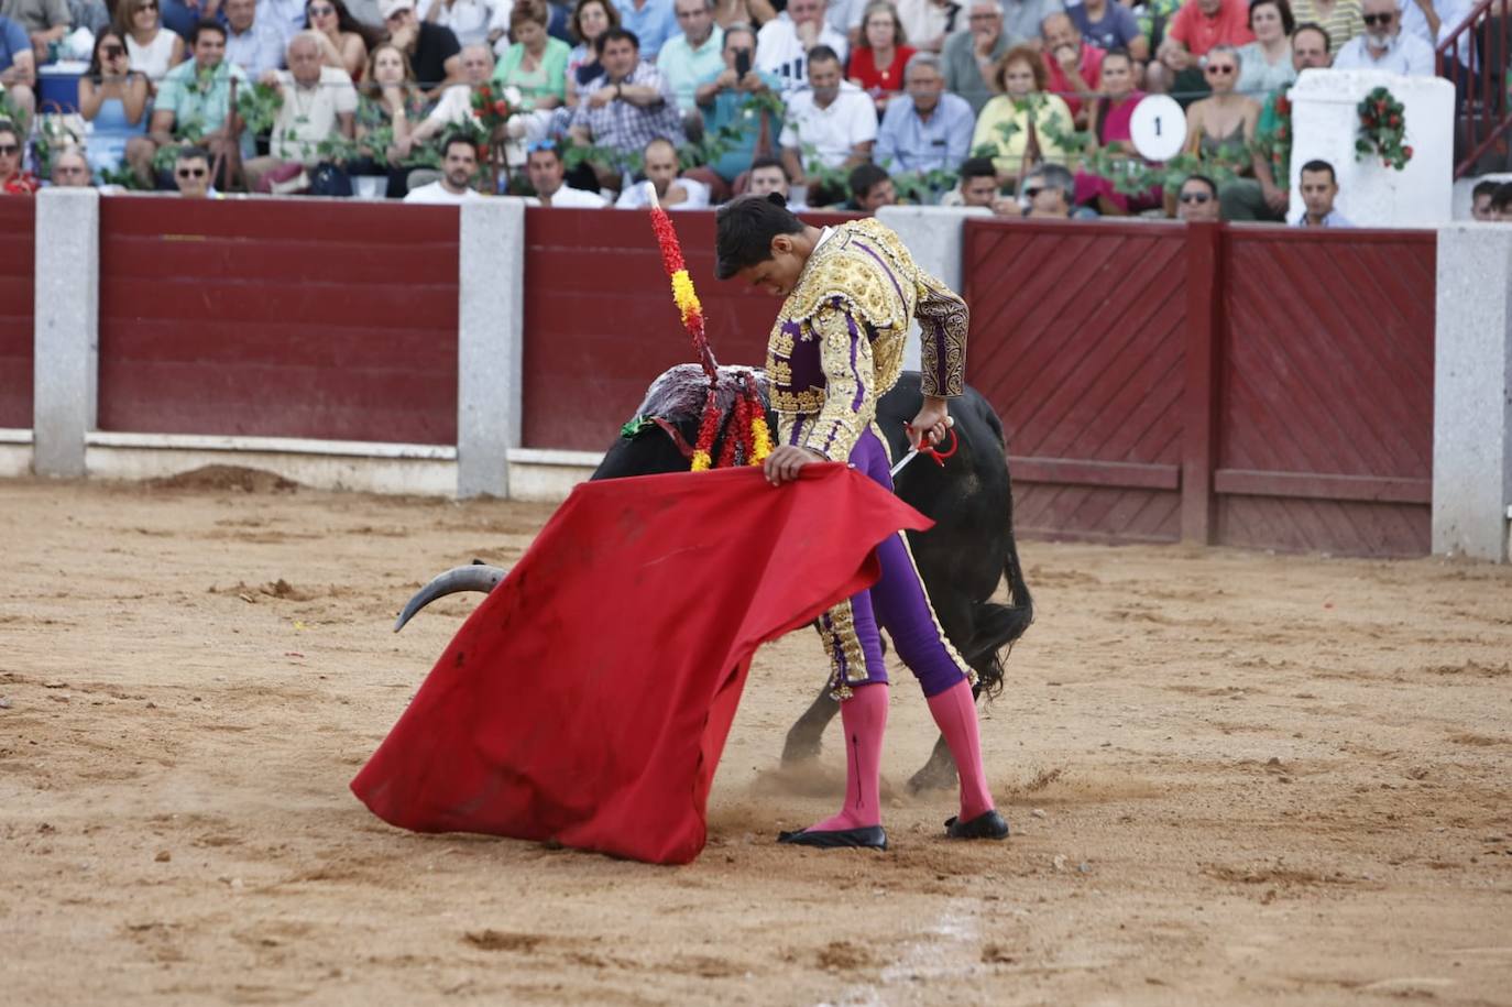
<instances>
[{"instance_id":1,"label":"pale concrete post at right edge, beside the red gate","mask_svg":"<svg viewBox=\"0 0 1512 1007\"><path fill-rule=\"evenodd\" d=\"M1433 552L1509 562L1512 227L1438 231Z\"/></svg>"}]
</instances>

